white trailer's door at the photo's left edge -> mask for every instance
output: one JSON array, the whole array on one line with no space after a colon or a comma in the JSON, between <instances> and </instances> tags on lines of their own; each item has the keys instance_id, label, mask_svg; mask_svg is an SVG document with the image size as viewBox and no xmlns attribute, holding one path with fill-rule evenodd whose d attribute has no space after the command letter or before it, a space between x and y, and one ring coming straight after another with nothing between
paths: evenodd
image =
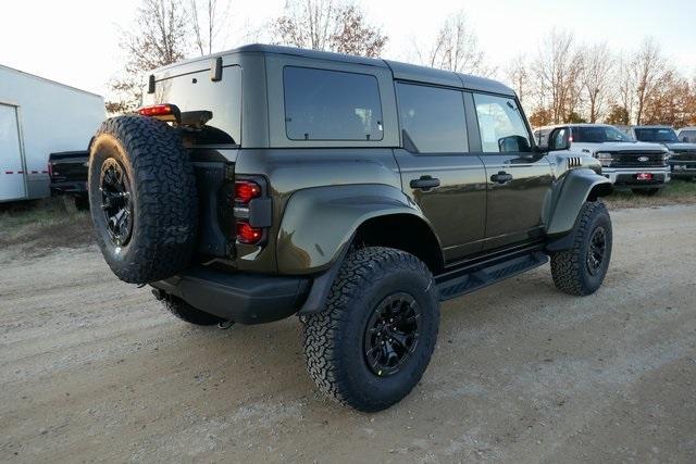
<instances>
[{"instance_id":1,"label":"white trailer's door at the photo's left edge","mask_svg":"<svg viewBox=\"0 0 696 464\"><path fill-rule=\"evenodd\" d=\"M0 103L0 201L26 197L16 106Z\"/></svg>"}]
</instances>

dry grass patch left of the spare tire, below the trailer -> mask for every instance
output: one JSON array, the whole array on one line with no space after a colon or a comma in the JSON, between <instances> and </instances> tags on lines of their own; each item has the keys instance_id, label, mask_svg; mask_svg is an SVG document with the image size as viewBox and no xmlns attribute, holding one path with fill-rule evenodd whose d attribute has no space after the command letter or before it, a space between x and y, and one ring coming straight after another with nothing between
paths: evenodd
<instances>
[{"instance_id":1,"label":"dry grass patch left of the spare tire, below the trailer","mask_svg":"<svg viewBox=\"0 0 696 464\"><path fill-rule=\"evenodd\" d=\"M92 241L89 212L65 208L62 198L0 204L0 248L78 248Z\"/></svg>"}]
</instances>

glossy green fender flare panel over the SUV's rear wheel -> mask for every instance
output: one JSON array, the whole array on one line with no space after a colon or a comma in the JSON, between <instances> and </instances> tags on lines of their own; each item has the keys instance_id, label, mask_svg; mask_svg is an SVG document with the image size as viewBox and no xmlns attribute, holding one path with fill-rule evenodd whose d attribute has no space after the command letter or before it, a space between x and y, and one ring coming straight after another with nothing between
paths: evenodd
<instances>
[{"instance_id":1,"label":"glossy green fender flare panel over the SUV's rear wheel","mask_svg":"<svg viewBox=\"0 0 696 464\"><path fill-rule=\"evenodd\" d=\"M389 214L417 216L433 230L418 205L393 186L361 184L296 191L277 234L278 273L308 275L327 269L339 260L361 224Z\"/></svg>"}]
</instances>

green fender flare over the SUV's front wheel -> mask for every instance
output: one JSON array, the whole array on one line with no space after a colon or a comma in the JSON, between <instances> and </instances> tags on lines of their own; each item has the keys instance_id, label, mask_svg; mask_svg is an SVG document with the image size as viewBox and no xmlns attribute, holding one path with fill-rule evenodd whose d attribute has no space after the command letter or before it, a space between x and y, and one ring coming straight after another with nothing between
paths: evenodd
<instances>
[{"instance_id":1,"label":"green fender flare over the SUV's front wheel","mask_svg":"<svg viewBox=\"0 0 696 464\"><path fill-rule=\"evenodd\" d=\"M611 181L593 170L569 171L554 202L546 234L554 237L572 231L577 214L593 190L598 189L597 195L600 196L610 192L611 188Z\"/></svg>"}]
</instances>

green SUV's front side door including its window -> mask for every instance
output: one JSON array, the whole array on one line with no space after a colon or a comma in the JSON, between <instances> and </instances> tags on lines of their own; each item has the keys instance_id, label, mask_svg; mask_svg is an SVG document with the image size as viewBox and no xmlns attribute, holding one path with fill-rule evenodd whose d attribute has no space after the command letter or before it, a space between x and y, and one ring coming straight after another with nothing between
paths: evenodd
<instances>
[{"instance_id":1,"label":"green SUV's front side door including its window","mask_svg":"<svg viewBox=\"0 0 696 464\"><path fill-rule=\"evenodd\" d=\"M468 95L476 110L481 159L486 168L484 249L538 238L550 201L551 166L532 150L531 134L513 98Z\"/></svg>"}]
</instances>

